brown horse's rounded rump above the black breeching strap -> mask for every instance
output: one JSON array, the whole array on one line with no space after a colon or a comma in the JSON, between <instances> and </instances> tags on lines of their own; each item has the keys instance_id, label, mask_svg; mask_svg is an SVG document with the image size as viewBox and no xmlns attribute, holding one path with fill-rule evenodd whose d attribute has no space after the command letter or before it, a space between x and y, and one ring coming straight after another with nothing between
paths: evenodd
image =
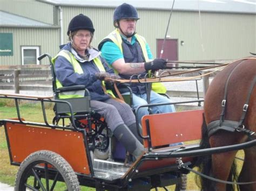
<instances>
[{"instance_id":1,"label":"brown horse's rounded rump above the black breeching strap","mask_svg":"<svg viewBox=\"0 0 256 191\"><path fill-rule=\"evenodd\" d=\"M231 74L232 73L232 74ZM230 75L231 74L231 75ZM230 79L227 82L228 76ZM247 95L256 75L256 59L245 59L231 63L219 72L211 82L205 97L205 118L206 123L218 121L223 109L221 103L224 99L224 90L227 82L227 98L225 120L240 121L242 110L246 102ZM256 88L254 87L248 111L246 114L245 126L251 130L256 129Z\"/></svg>"}]
</instances>

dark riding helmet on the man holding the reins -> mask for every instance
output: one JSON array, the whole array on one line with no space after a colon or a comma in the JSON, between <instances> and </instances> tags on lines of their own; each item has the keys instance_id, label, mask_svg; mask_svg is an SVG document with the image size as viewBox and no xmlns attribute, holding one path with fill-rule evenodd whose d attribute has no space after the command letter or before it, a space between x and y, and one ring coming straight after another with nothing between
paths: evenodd
<instances>
[{"instance_id":1,"label":"dark riding helmet on the man holding the reins","mask_svg":"<svg viewBox=\"0 0 256 191\"><path fill-rule=\"evenodd\" d=\"M116 25L116 23L118 22L118 20L120 19L136 19L138 20L138 12L137 10L134 8L134 6L127 4L127 3L123 3L122 5L119 5L115 10L114 10L114 15L113 15L113 24L114 27L118 27Z\"/></svg>"}]
</instances>

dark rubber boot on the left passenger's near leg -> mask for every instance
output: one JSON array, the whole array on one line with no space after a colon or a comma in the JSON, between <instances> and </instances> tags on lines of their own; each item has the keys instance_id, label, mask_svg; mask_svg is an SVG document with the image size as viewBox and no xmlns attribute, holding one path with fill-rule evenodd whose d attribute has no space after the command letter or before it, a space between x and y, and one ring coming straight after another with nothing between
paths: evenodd
<instances>
[{"instance_id":1,"label":"dark rubber boot on the left passenger's near leg","mask_svg":"<svg viewBox=\"0 0 256 191\"><path fill-rule=\"evenodd\" d=\"M113 134L119 142L124 145L125 149L136 159L144 152L144 146L125 124L117 126Z\"/></svg>"}]
</instances>

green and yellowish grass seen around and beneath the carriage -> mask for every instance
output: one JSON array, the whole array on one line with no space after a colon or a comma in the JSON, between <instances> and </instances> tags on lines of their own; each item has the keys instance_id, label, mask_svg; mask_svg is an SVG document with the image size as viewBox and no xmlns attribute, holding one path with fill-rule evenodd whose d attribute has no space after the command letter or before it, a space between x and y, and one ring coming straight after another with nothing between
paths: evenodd
<instances>
[{"instance_id":1,"label":"green and yellowish grass seen around and beneath the carriage","mask_svg":"<svg viewBox=\"0 0 256 191\"><path fill-rule=\"evenodd\" d=\"M0 119L17 118L16 108L13 107L14 103L11 101L0 102ZM27 121L43 122L43 114L41 106L35 103L23 103L21 107L21 116ZM46 107L46 114L49 117L49 121L54 116L52 111L52 105ZM8 146L6 143L4 128L0 128L0 182L7 183L8 185L14 186L15 177L18 171L17 166L10 165L10 158L8 152ZM242 151L238 152L238 157L243 158L244 154ZM242 162L238 161L238 167L241 169ZM187 190L199 190L195 183L195 174L188 174ZM169 190L174 190L174 186L167 187ZM82 190L95 190L94 188L82 187ZM154 190L154 189L152 189ZM159 190L164 190L160 188Z\"/></svg>"}]
</instances>

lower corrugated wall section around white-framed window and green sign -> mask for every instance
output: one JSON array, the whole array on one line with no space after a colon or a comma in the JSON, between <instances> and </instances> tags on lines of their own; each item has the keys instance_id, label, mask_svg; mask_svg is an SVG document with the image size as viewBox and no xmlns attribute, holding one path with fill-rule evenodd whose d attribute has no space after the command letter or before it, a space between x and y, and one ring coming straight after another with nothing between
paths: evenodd
<instances>
[{"instance_id":1,"label":"lower corrugated wall section around white-framed window and green sign","mask_svg":"<svg viewBox=\"0 0 256 191\"><path fill-rule=\"evenodd\" d=\"M59 30L58 29L18 29L0 28L0 33L9 33L13 36L14 55L0 56L0 65L22 65L21 46L39 46L40 53L50 53L52 56L58 53ZM48 64L43 59L41 64Z\"/></svg>"}]
</instances>

